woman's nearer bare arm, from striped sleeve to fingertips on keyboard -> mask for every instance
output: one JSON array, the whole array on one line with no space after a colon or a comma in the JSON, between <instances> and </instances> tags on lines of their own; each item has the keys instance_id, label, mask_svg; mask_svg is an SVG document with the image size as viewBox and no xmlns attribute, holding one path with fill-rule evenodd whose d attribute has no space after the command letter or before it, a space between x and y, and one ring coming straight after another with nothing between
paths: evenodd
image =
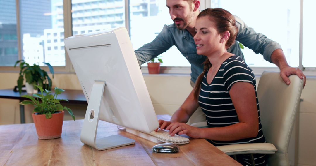
<instances>
[{"instance_id":1,"label":"woman's nearer bare arm, from striped sleeve to fingertips on keyboard","mask_svg":"<svg viewBox=\"0 0 316 166\"><path fill-rule=\"evenodd\" d=\"M258 135L258 110L254 87L248 82L236 82L229 95L233 101L239 123L225 127L195 128L184 123L172 123L166 130L169 134L187 134L192 138L206 138L216 141L234 141Z\"/></svg>"}]
</instances>

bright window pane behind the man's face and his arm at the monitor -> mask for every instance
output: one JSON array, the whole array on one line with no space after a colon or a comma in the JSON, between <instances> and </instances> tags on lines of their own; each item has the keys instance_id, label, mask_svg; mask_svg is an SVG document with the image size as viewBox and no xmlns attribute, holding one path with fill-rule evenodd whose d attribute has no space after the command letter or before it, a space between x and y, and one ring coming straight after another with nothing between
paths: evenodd
<instances>
[{"instance_id":1,"label":"bright window pane behind the man's face and his arm at the monitor","mask_svg":"<svg viewBox=\"0 0 316 166\"><path fill-rule=\"evenodd\" d=\"M130 0L130 9L131 42L135 50L154 40L165 24L173 24L166 1L139 3L137 0ZM163 59L163 66L191 66L175 46L162 53L160 57Z\"/></svg>"}]
</instances>

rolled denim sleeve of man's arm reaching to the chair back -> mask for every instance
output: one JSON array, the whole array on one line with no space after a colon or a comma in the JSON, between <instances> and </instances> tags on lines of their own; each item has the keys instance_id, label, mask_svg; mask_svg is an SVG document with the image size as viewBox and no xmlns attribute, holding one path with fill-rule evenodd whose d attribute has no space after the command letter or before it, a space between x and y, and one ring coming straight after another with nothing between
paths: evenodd
<instances>
[{"instance_id":1,"label":"rolled denim sleeve of man's arm reaching to the chair back","mask_svg":"<svg viewBox=\"0 0 316 166\"><path fill-rule=\"evenodd\" d=\"M236 40L252 49L256 54L262 54L266 61L272 63L272 52L276 49L282 49L281 46L262 33L257 33L253 28L248 27L238 16L235 16L235 20L238 27Z\"/></svg>"}]
</instances>

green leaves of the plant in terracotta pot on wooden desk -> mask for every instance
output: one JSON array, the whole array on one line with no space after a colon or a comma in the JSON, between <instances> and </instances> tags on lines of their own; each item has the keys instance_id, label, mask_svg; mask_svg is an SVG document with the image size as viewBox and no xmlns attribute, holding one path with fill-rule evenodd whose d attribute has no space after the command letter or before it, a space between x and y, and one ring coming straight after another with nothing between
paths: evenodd
<instances>
[{"instance_id":1,"label":"green leaves of the plant in terracotta pot on wooden desk","mask_svg":"<svg viewBox=\"0 0 316 166\"><path fill-rule=\"evenodd\" d=\"M65 90L55 87L55 93L52 95L52 91L49 91L45 89L45 95L43 94L44 90L41 86L33 85L40 89L41 94L33 94L32 96L29 95L23 95L21 97L26 97L32 101L23 101L20 102L21 105L27 105L32 104L35 108L33 110L34 112L37 112L38 114L45 114L46 119L52 118L52 113L55 113L56 111L62 111L67 110L69 114L71 115L72 119L75 120L75 116L72 113L70 108L63 107L59 101L67 101L67 99L57 99L57 96L64 92ZM36 97L36 99L34 98ZM39 99L42 101L40 102Z\"/></svg>"}]
</instances>

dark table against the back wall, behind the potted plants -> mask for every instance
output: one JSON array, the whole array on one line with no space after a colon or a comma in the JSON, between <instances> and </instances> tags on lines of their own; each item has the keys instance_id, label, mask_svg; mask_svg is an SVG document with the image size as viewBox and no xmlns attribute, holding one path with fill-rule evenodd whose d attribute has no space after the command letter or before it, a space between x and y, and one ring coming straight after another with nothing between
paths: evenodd
<instances>
[{"instance_id":1,"label":"dark table against the back wall, behind the potted plants","mask_svg":"<svg viewBox=\"0 0 316 166\"><path fill-rule=\"evenodd\" d=\"M40 93L40 92L39 92ZM21 95L19 92L15 92L12 89L3 89L0 90L0 98L6 99L18 99L21 101L28 100L25 97L21 97L22 95L30 95L26 92L22 92ZM72 103L72 104L88 104L86 98L82 90L68 90L65 89L65 92L61 93L57 96L58 99L67 99L69 102L61 101L61 103ZM20 105L20 119L21 123L25 123L25 115L24 115L24 105Z\"/></svg>"}]
</instances>

